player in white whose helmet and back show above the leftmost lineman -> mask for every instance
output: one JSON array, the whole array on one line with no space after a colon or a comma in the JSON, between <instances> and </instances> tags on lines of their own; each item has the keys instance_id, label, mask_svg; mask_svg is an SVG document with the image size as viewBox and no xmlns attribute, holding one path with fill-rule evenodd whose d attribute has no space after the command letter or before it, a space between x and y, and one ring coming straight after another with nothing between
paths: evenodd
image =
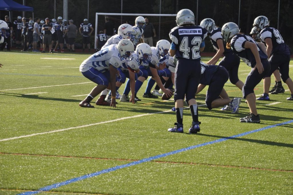
<instances>
[{"instance_id":1,"label":"player in white whose helmet and back show above the leftmost lineman","mask_svg":"<svg viewBox=\"0 0 293 195\"><path fill-rule=\"evenodd\" d=\"M134 40L133 33L134 33L134 31L133 31L131 25L122 24L118 28L118 34L109 38L108 41L106 42L106 44L101 49L103 49L109 45L112 45L112 44L118 44L119 41L121 41L122 39L129 39L130 41L133 41Z\"/></svg>"}]
</instances>

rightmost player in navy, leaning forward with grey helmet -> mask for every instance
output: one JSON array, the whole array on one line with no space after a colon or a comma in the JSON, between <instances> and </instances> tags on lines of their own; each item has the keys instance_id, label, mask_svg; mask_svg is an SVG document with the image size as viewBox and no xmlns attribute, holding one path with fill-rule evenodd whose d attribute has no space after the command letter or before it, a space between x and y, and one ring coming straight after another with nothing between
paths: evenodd
<instances>
[{"instance_id":1,"label":"rightmost player in navy, leaning forward with grey helmet","mask_svg":"<svg viewBox=\"0 0 293 195\"><path fill-rule=\"evenodd\" d=\"M258 16L253 22L253 26L257 27L259 31L261 30L260 39L267 46L267 53L271 64L271 69L263 80L264 93L261 97L257 98L257 100L270 100L268 93L271 84L271 75L277 69L279 69L283 82L287 84L291 92L291 97L288 97L287 100L293 100L293 81L289 77L289 48L285 44L280 32L276 28L269 27L269 25L268 18L265 16ZM274 92L282 93L285 91L281 81L277 82L277 85L277 89ZM272 94L274 93L272 92Z\"/></svg>"}]
</instances>

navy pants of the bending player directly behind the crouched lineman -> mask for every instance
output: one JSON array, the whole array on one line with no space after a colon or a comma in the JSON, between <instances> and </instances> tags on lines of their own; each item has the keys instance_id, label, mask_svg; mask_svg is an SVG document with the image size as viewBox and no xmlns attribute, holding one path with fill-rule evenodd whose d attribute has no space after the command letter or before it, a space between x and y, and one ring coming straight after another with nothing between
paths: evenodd
<instances>
[{"instance_id":1,"label":"navy pants of the bending player directly behind the crouched lineman","mask_svg":"<svg viewBox=\"0 0 293 195\"><path fill-rule=\"evenodd\" d=\"M219 62L219 66L224 66L229 73L229 79L233 85L239 81L238 68L240 58L233 52L225 54L225 57Z\"/></svg>"}]
</instances>

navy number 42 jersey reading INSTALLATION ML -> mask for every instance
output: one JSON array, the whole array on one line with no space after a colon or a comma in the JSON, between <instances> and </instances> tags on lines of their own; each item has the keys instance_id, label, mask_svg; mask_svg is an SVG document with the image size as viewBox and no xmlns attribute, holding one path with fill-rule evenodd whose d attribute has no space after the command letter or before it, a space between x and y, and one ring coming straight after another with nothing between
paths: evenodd
<instances>
[{"instance_id":1,"label":"navy number 42 jersey reading INSTALLATION ML","mask_svg":"<svg viewBox=\"0 0 293 195\"><path fill-rule=\"evenodd\" d=\"M200 44L207 37L207 30L203 26L176 26L171 29L169 36L176 44L176 58L200 60Z\"/></svg>"}]
</instances>

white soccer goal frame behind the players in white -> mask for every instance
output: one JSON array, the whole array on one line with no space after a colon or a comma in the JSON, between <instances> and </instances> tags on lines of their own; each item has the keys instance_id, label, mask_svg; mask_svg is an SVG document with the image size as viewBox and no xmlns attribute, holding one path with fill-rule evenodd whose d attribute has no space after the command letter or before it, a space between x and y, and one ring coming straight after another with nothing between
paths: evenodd
<instances>
[{"instance_id":1,"label":"white soccer goal frame behind the players in white","mask_svg":"<svg viewBox=\"0 0 293 195\"><path fill-rule=\"evenodd\" d=\"M96 46L96 41L97 41L97 34L98 34L98 16L99 15L105 15L105 16L143 16L143 17L150 17L150 16L172 16L176 17L177 14L121 14L121 13L96 13L96 25L95 25L95 49L97 48ZM122 18L121 18L122 22ZM174 20L175 22L175 20ZM122 23L121 23L122 24ZM172 27L173 28L173 27ZM161 30L161 22L159 22L159 34ZM118 31L118 29L117 29Z\"/></svg>"}]
</instances>

